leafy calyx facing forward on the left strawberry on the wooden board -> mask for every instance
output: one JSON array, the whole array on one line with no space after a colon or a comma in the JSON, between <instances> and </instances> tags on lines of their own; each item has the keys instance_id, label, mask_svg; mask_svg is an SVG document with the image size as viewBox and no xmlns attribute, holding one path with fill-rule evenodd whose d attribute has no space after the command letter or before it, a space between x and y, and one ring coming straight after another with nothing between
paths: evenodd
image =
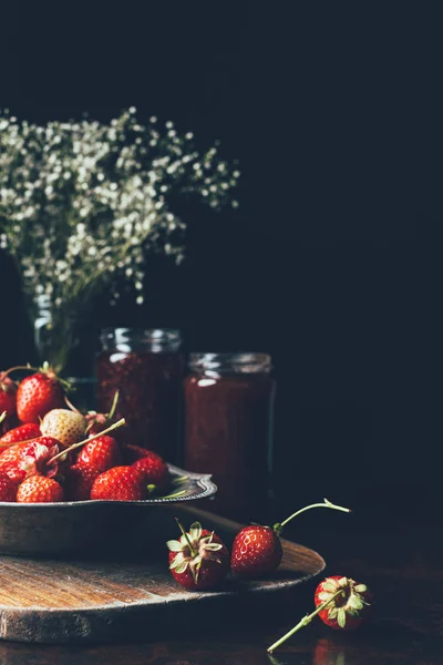
<instances>
[{"instance_id":1,"label":"leafy calyx facing forward on the left strawberry on the wooden board","mask_svg":"<svg viewBox=\"0 0 443 665\"><path fill-rule=\"evenodd\" d=\"M182 531L182 536L179 540L171 540L166 543L171 552L177 553L169 564L169 569L175 570L177 574L189 569L194 582L197 584L198 573L205 560L222 564L222 560L218 559L215 552L222 550L223 545L213 542L214 531L209 535L202 536L203 529L199 522L194 522L189 532L186 533L177 518L175 520Z\"/></svg>"}]
</instances>

